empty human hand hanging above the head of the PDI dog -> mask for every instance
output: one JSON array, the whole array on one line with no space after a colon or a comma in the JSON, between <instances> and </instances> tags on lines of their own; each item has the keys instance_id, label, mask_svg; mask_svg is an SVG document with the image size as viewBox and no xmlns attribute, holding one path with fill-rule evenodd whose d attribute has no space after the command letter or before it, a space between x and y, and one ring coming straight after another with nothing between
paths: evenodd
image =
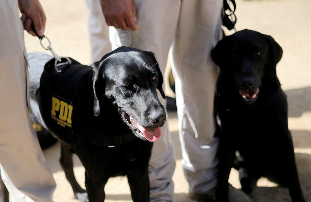
<instances>
[{"instance_id":1,"label":"empty human hand hanging above the head of the PDI dog","mask_svg":"<svg viewBox=\"0 0 311 202\"><path fill-rule=\"evenodd\" d=\"M133 31L136 26L136 7L133 0L100 0L105 21L108 26Z\"/></svg>"}]
</instances>

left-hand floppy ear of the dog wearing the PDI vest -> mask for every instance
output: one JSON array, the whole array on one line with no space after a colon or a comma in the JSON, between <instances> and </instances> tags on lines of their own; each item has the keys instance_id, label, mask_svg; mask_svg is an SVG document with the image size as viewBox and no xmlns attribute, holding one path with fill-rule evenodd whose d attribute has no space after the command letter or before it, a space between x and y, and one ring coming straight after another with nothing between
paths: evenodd
<instances>
[{"instance_id":1,"label":"left-hand floppy ear of the dog wearing the PDI vest","mask_svg":"<svg viewBox=\"0 0 311 202\"><path fill-rule=\"evenodd\" d=\"M95 116L98 116L101 112L99 100L98 100L97 95L96 95L95 84L99 80L99 76L103 75L102 74L102 69L104 66L103 63L104 63L104 61L99 61L99 62L95 62L92 65L92 68L93 68L92 89L93 89L93 98L94 98L93 112L94 112Z\"/></svg>"}]
</instances>

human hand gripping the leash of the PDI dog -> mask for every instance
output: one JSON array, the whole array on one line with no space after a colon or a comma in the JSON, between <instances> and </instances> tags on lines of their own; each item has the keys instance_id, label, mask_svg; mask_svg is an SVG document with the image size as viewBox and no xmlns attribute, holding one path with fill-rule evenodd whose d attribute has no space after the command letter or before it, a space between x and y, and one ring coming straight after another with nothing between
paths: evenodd
<instances>
[{"instance_id":1,"label":"human hand gripping the leash of the PDI dog","mask_svg":"<svg viewBox=\"0 0 311 202\"><path fill-rule=\"evenodd\" d=\"M22 14L20 18L23 22L24 30L32 36L36 36L31 28L31 24L34 23L36 32L42 37L47 18L39 0L18 0L18 8Z\"/></svg>"}]
</instances>

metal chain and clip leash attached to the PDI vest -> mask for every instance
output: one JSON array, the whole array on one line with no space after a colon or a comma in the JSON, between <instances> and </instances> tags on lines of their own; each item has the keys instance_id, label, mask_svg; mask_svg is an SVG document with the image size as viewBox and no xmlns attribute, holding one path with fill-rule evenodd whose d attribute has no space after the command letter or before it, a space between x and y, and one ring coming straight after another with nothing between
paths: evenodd
<instances>
[{"instance_id":1,"label":"metal chain and clip leash attached to the PDI vest","mask_svg":"<svg viewBox=\"0 0 311 202\"><path fill-rule=\"evenodd\" d=\"M51 41L48 37L46 37L45 35L43 35L42 37L40 37L38 35L38 33L35 31L35 25L34 23L31 25L31 29L35 32L35 35L40 39L40 44L42 46L42 48L44 48L47 51L51 51L53 57L55 58L55 62L54 62L54 68L56 70L57 73L61 73L62 71L60 69L58 69L58 66L60 65L64 65L64 64L71 64L71 60L69 59L69 57L59 57L55 51L52 49L52 45L51 45ZM43 39L46 38L48 41L48 45L45 47L43 45Z\"/></svg>"}]
</instances>

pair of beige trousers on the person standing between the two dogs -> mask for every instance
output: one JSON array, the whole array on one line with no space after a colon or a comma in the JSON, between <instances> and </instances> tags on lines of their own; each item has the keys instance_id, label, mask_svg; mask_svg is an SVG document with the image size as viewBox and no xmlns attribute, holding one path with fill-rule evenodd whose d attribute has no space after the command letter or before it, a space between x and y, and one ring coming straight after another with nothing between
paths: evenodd
<instances>
[{"instance_id":1,"label":"pair of beige trousers on the person standing between the two dogs","mask_svg":"<svg viewBox=\"0 0 311 202\"><path fill-rule=\"evenodd\" d=\"M215 157L218 139L214 137L212 116L217 67L210 58L210 51L221 37L223 0L134 2L138 30L109 27L112 49L130 46L152 51L164 74L172 47L183 168L190 191L208 193L216 186L218 163ZM101 20L105 24L104 18ZM175 157L167 124L162 133L154 144L149 166L152 202L173 201Z\"/></svg>"}]
</instances>

